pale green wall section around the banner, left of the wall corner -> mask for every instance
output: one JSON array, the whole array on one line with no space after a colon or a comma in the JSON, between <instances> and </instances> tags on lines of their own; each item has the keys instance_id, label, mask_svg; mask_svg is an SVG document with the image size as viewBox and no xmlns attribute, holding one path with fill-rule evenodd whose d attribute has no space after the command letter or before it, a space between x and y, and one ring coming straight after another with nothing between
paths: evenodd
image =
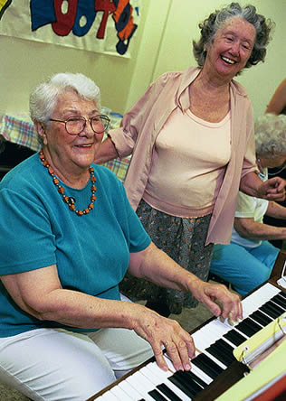
<instances>
[{"instance_id":1,"label":"pale green wall section around the banner, left of the wall corner","mask_svg":"<svg viewBox=\"0 0 286 401\"><path fill-rule=\"evenodd\" d=\"M129 44L130 59L0 35L0 113L28 111L31 89L52 74L65 71L82 72L94 79L101 90L101 104L123 112L137 62L148 1L142 1L138 30Z\"/></svg>"}]
</instances>

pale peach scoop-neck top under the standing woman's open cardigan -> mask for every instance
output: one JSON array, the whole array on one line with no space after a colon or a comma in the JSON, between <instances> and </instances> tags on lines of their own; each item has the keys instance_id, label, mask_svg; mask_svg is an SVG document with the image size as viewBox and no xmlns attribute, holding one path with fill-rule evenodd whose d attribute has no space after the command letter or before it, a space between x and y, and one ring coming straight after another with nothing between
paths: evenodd
<instances>
[{"instance_id":1,"label":"pale peach scoop-neck top under the standing woman's open cardigan","mask_svg":"<svg viewBox=\"0 0 286 401\"><path fill-rule=\"evenodd\" d=\"M211 213L231 156L230 129L230 113L210 123L176 107L157 135L143 199L179 217Z\"/></svg>"}]
</instances>

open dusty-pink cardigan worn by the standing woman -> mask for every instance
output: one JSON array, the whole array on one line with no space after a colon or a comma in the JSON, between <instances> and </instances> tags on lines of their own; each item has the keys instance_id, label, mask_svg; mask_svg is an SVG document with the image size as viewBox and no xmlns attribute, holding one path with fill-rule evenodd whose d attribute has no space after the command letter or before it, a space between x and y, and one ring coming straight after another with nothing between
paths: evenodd
<instances>
[{"instance_id":1,"label":"open dusty-pink cardigan worn by the standing woman","mask_svg":"<svg viewBox=\"0 0 286 401\"><path fill-rule=\"evenodd\" d=\"M109 132L120 158L132 154L124 185L134 210L148 181L156 137L174 108L180 107L184 112L190 107L189 86L199 72L198 68L189 68L163 74L125 114L122 126ZM251 101L235 81L231 82L230 93L231 159L215 203L206 245L229 243L241 177L257 171Z\"/></svg>"}]
</instances>

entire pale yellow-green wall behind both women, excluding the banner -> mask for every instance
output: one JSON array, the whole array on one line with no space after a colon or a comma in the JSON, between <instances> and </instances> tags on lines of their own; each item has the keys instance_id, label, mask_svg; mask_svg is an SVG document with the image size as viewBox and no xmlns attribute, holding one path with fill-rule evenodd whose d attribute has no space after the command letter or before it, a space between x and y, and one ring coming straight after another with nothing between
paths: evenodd
<instances>
[{"instance_id":1,"label":"entire pale yellow-green wall behind both women, excluding the banner","mask_svg":"<svg viewBox=\"0 0 286 401\"><path fill-rule=\"evenodd\" d=\"M100 86L102 105L124 113L167 70L195 65L192 40L198 23L224 0L142 0L141 20L131 59L63 46L0 36L0 113L28 110L34 85L53 73L82 72ZM286 0L242 0L276 22L265 63L244 70L238 78L253 99L254 116L262 114L285 78ZM0 22L1 23L1 22Z\"/></svg>"}]
</instances>

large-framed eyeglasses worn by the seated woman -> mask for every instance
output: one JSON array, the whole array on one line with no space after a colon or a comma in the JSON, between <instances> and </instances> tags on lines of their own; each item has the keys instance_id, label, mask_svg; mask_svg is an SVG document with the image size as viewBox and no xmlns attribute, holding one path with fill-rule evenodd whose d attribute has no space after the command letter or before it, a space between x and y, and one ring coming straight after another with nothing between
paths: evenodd
<instances>
[{"instance_id":1,"label":"large-framed eyeglasses worn by the seated woman","mask_svg":"<svg viewBox=\"0 0 286 401\"><path fill-rule=\"evenodd\" d=\"M63 123L65 125L67 133L70 135L81 134L88 121L90 121L91 129L95 134L102 134L108 129L108 126L110 124L110 118L101 114L91 118L85 118L83 116L71 116L66 120L57 120L55 118L50 118L50 121Z\"/></svg>"}]
</instances>

